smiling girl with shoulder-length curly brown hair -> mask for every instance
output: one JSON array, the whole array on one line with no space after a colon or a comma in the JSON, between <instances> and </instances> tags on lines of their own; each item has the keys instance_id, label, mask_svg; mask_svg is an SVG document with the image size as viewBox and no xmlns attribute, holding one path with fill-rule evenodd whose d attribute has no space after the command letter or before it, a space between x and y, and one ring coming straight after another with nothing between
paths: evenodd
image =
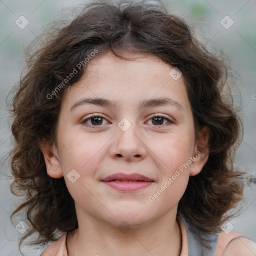
<instances>
[{"instance_id":1,"label":"smiling girl with shoulder-length curly brown hair","mask_svg":"<svg viewBox=\"0 0 256 256\"><path fill-rule=\"evenodd\" d=\"M21 242L54 241L42 256L255 255L225 229L242 198L226 79L160 2L97 1L49 32L13 100Z\"/></svg>"}]
</instances>

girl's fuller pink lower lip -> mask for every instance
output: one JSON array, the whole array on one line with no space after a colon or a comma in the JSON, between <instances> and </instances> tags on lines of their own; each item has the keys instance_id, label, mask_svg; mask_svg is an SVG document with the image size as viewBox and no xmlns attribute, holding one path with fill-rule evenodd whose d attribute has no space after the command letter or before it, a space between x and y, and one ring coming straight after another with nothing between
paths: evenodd
<instances>
[{"instance_id":1,"label":"girl's fuller pink lower lip","mask_svg":"<svg viewBox=\"0 0 256 256\"><path fill-rule=\"evenodd\" d=\"M118 182L118 181L110 181L104 182L106 185L118 190L118 191L126 191L133 192L138 191L140 189L146 188L150 186L154 182L148 181L138 181L138 182Z\"/></svg>"}]
</instances>

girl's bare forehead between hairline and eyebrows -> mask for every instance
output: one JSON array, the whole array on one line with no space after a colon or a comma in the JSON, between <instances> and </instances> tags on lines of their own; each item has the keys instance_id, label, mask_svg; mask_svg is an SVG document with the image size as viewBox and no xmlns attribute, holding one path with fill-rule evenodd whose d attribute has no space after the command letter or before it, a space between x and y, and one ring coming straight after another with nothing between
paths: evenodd
<instances>
[{"instance_id":1,"label":"girl's bare forehead between hairline and eyebrows","mask_svg":"<svg viewBox=\"0 0 256 256\"><path fill-rule=\"evenodd\" d=\"M174 80L169 74L173 66L149 54L128 57L132 60L107 52L92 58L84 76L68 87L68 101L73 103L86 96L139 104L145 99L169 96L183 108L190 108L183 77Z\"/></svg>"}]
</instances>

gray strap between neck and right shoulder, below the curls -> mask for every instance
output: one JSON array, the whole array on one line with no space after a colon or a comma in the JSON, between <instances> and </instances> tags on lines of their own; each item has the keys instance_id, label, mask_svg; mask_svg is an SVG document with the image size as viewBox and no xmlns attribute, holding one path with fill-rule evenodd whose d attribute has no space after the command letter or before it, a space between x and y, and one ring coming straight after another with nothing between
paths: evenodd
<instances>
[{"instance_id":1,"label":"gray strap between neck and right shoulder, below the curls","mask_svg":"<svg viewBox=\"0 0 256 256\"><path fill-rule=\"evenodd\" d=\"M218 244L219 233L201 233L202 237L204 237L207 240L210 240L209 242L205 242L205 244L210 246L210 249L208 249L205 246L201 245L200 238L193 232L194 230L196 230L196 228L190 226L183 216L181 217L184 221L187 232L188 256L214 256Z\"/></svg>"}]
</instances>

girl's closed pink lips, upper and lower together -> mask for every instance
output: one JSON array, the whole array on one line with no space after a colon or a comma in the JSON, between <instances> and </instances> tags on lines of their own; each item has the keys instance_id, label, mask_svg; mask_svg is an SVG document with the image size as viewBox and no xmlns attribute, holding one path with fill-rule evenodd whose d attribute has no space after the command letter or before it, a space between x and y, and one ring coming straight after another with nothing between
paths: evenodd
<instances>
[{"instance_id":1,"label":"girl's closed pink lips, upper and lower together","mask_svg":"<svg viewBox=\"0 0 256 256\"><path fill-rule=\"evenodd\" d=\"M115 173L103 180L101 180L107 186L110 186L118 191L133 192L146 188L155 181L139 173L125 174Z\"/></svg>"}]
</instances>

